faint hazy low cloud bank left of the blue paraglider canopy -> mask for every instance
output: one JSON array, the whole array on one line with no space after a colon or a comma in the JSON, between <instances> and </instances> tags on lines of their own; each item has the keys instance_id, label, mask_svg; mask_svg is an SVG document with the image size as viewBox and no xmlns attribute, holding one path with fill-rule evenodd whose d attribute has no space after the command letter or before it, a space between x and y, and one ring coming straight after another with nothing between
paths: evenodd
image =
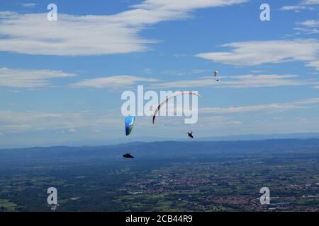
<instances>
[{"instance_id":1,"label":"faint hazy low cloud bank left of the blue paraglider canopy","mask_svg":"<svg viewBox=\"0 0 319 226\"><path fill-rule=\"evenodd\" d=\"M18 112L0 110L0 132L59 130L76 132L79 129L103 129L118 126L122 121L108 112Z\"/></svg>"}]
</instances>

